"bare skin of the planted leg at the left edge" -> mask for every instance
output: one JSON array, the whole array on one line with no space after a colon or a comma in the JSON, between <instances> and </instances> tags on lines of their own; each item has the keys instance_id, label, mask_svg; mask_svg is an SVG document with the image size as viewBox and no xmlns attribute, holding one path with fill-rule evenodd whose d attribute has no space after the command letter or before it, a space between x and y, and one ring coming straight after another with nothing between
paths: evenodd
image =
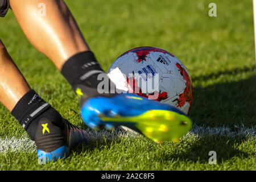
<instances>
[{"instance_id":1,"label":"bare skin of the planted leg at the left edge","mask_svg":"<svg viewBox=\"0 0 256 182\"><path fill-rule=\"evenodd\" d=\"M11 111L29 90L30 86L0 40L0 102Z\"/></svg>"}]
</instances>

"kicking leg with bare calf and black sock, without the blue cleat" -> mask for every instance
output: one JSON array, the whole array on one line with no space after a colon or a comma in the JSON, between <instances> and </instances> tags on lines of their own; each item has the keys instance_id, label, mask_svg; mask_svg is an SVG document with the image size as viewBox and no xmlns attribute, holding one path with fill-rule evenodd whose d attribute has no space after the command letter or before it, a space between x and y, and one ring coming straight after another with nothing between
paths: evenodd
<instances>
[{"instance_id":1,"label":"kicking leg with bare calf and black sock, without the blue cleat","mask_svg":"<svg viewBox=\"0 0 256 182\"><path fill-rule=\"evenodd\" d=\"M46 16L38 14L42 2L46 5ZM55 63L76 93L97 95L101 82L97 80L98 75L105 72L89 51L64 1L10 0L10 5L30 42ZM108 76L105 74L104 78Z\"/></svg>"}]
</instances>

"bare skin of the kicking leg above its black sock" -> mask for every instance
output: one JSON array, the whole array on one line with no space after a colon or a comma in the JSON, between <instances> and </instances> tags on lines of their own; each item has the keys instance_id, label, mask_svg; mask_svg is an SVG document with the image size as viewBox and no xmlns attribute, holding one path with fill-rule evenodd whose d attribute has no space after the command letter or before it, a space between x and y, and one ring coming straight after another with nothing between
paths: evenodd
<instances>
[{"instance_id":1,"label":"bare skin of the kicking leg above its black sock","mask_svg":"<svg viewBox=\"0 0 256 182\"><path fill-rule=\"evenodd\" d=\"M39 3L46 16L38 14ZM61 70L69 57L89 47L63 0L10 0L20 27L28 40Z\"/></svg>"}]
</instances>

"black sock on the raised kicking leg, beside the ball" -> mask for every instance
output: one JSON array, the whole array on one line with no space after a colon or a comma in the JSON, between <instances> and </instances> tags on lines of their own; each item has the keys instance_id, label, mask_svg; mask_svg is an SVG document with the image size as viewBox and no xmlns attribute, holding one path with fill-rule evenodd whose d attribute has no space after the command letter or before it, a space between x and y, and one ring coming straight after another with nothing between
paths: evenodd
<instances>
[{"instance_id":1,"label":"black sock on the raised kicking leg, beside the ball","mask_svg":"<svg viewBox=\"0 0 256 182\"><path fill-rule=\"evenodd\" d=\"M83 96L83 100L96 96L112 96L115 93L113 90L114 84L108 79L108 88L105 90L104 86L101 88L101 93L98 92L98 84L102 80L97 80L98 75L106 73L101 69L96 57L91 51L84 51L77 53L69 58L61 69L61 73L71 84L76 94ZM111 94L112 93L112 94Z\"/></svg>"}]
</instances>

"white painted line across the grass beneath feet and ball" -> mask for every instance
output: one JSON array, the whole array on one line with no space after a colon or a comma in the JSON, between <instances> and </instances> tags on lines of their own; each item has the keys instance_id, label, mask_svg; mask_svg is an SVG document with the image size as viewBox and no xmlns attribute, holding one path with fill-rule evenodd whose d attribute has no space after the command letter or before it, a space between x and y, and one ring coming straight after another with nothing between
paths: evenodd
<instances>
[{"instance_id":1,"label":"white painted line across the grass beneath feet and ball","mask_svg":"<svg viewBox=\"0 0 256 182\"><path fill-rule=\"evenodd\" d=\"M136 133L131 133L130 131L124 131L117 129L113 132L108 131L94 131L87 130L91 137L91 140L105 140L105 139L118 139L124 137L136 137ZM230 127L206 127L194 125L183 138L198 138L204 136L226 136L226 137L256 137L256 126L255 127L245 127L245 126L234 126ZM0 138L0 154L6 152L21 152L21 151L36 151L35 142L32 142L27 136L21 138Z\"/></svg>"}]
</instances>

